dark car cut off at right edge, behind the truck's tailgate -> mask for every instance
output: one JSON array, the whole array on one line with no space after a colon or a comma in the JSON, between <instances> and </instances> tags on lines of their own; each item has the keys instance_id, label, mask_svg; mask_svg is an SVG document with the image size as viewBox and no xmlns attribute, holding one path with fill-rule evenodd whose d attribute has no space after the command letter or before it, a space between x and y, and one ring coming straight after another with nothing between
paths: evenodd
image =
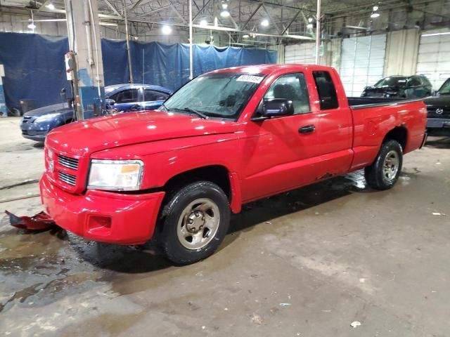
<instances>
[{"instance_id":1,"label":"dark car cut off at right edge, behind the truck's tailgate","mask_svg":"<svg viewBox=\"0 0 450 337\"><path fill-rule=\"evenodd\" d=\"M450 131L450 79L447 79L435 95L423 100L427 105L429 131Z\"/></svg>"}]
</instances>

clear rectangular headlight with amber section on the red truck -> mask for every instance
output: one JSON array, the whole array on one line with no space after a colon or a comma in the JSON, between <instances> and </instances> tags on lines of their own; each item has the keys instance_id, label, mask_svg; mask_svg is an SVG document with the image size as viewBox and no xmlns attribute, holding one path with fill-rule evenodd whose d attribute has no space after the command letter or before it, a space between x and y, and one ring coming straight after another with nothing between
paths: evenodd
<instances>
[{"instance_id":1,"label":"clear rectangular headlight with amber section on the red truck","mask_svg":"<svg viewBox=\"0 0 450 337\"><path fill-rule=\"evenodd\" d=\"M139 190L143 173L140 160L92 159L88 188L98 190Z\"/></svg>"}]
</instances>

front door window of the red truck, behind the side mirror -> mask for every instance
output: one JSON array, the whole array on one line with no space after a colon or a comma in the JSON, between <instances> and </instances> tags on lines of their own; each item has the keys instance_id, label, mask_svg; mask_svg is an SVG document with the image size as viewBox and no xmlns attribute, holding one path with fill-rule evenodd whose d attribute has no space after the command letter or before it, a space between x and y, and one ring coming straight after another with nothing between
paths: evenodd
<instances>
[{"instance_id":1,"label":"front door window of the red truck, behind the side mirror","mask_svg":"<svg viewBox=\"0 0 450 337\"><path fill-rule=\"evenodd\" d=\"M304 79L304 74L300 72L278 77L264 95L264 100L273 98L292 100L294 114L304 114L311 111L307 82Z\"/></svg>"}]
</instances>

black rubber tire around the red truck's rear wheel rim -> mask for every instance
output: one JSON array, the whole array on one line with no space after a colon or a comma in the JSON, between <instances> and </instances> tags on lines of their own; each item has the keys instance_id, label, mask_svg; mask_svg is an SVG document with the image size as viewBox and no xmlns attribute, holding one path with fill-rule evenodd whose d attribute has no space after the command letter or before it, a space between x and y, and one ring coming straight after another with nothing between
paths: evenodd
<instances>
[{"instance_id":1,"label":"black rubber tire around the red truck's rear wheel rim","mask_svg":"<svg viewBox=\"0 0 450 337\"><path fill-rule=\"evenodd\" d=\"M390 173L386 173L385 170L388 169L386 160L387 157L394 159L395 154L397 154L397 171L395 174L390 176ZM386 166L385 166L386 164ZM364 169L364 176L366 177L367 184L374 188L375 190L388 190L397 183L401 172L401 165L403 164L403 151L401 150L401 145L397 140L387 140L383 143L378 152L378 156L371 166L367 166Z\"/></svg>"}]
</instances>

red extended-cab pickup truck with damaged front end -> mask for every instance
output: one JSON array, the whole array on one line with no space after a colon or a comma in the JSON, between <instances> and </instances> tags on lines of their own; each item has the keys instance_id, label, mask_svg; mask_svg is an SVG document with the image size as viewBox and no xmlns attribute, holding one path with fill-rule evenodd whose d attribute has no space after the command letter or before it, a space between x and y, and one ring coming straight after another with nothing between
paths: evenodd
<instances>
[{"instance_id":1,"label":"red extended-cab pickup truck with damaged front end","mask_svg":"<svg viewBox=\"0 0 450 337\"><path fill-rule=\"evenodd\" d=\"M249 201L359 169L371 187L392 187L426 120L420 100L347 98L330 67L216 70L157 111L56 128L41 199L70 232L115 244L153 237L174 263L193 263Z\"/></svg>"}]
</instances>

